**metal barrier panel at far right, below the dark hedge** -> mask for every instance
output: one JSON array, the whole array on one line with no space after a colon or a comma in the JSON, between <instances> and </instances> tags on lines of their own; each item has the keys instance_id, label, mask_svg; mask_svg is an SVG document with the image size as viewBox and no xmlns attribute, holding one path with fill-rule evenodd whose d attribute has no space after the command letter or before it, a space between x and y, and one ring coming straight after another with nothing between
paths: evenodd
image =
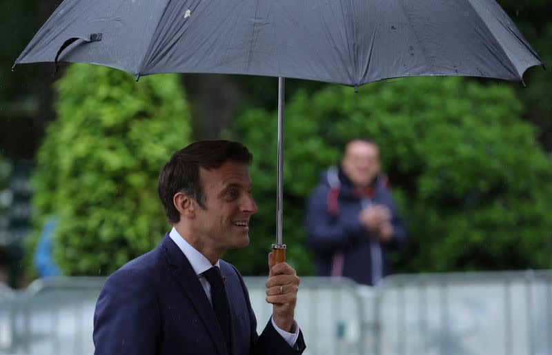
<instances>
[{"instance_id":1,"label":"metal barrier panel at far right, below the dark hedge","mask_svg":"<svg viewBox=\"0 0 552 355\"><path fill-rule=\"evenodd\" d=\"M551 271L395 275L378 298L377 354L552 354Z\"/></svg>"}]
</instances>

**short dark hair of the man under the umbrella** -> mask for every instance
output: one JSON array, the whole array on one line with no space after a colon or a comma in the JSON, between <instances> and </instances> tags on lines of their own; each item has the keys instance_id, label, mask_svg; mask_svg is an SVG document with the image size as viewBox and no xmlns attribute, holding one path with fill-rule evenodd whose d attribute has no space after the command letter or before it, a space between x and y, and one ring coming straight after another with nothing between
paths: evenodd
<instances>
[{"instance_id":1,"label":"short dark hair of the man under the umbrella","mask_svg":"<svg viewBox=\"0 0 552 355\"><path fill-rule=\"evenodd\" d=\"M199 168L220 168L226 161L250 164L253 155L242 143L222 140L195 142L172 155L161 169L157 184L157 193L170 223L180 221L180 213L172 202L178 192L193 197L201 208L205 208Z\"/></svg>"}]
</instances>

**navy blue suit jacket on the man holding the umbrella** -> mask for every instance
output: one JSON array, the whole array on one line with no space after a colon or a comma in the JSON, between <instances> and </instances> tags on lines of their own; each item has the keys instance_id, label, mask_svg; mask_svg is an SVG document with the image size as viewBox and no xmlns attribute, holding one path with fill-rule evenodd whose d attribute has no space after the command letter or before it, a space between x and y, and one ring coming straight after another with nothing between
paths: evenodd
<instances>
[{"instance_id":1,"label":"navy blue suit jacket on the man holding the umbrella","mask_svg":"<svg viewBox=\"0 0 552 355\"><path fill-rule=\"evenodd\" d=\"M220 261L232 325L231 355L301 354L302 334L294 347L268 321L257 335L257 321L242 276ZM112 274L94 314L96 355L227 355L224 338L192 265L168 236L154 250Z\"/></svg>"}]
</instances>

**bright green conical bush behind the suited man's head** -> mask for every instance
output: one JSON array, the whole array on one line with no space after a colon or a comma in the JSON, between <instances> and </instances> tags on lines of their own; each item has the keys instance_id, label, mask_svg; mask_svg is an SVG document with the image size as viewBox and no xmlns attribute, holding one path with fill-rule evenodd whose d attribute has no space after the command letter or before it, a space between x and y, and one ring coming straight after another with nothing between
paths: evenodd
<instances>
[{"instance_id":1,"label":"bright green conical bush behind the suited man's head","mask_svg":"<svg viewBox=\"0 0 552 355\"><path fill-rule=\"evenodd\" d=\"M71 65L56 90L58 119L32 177L34 222L39 230L57 216L55 258L66 274L107 275L155 247L169 228L157 177L190 143L184 91L174 74L136 83L82 64Z\"/></svg>"}]
</instances>

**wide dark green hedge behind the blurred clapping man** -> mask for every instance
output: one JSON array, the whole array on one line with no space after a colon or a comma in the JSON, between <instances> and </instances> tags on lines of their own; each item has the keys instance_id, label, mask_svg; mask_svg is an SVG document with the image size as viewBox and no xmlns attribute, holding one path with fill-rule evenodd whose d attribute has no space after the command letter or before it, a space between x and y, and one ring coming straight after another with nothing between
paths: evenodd
<instances>
[{"instance_id":1,"label":"wide dark green hedge behind the blurred clapping man","mask_svg":"<svg viewBox=\"0 0 552 355\"><path fill-rule=\"evenodd\" d=\"M302 274L310 270L302 228L306 196L319 172L339 161L346 141L368 136L380 144L412 239L395 270L552 267L552 163L521 114L508 85L458 77L371 83L357 94L337 85L298 92L286 105L284 134L288 258ZM241 268L275 235L276 123L276 114L264 110L235 122L255 156L259 204L253 248L232 255ZM264 260L254 267L262 272Z\"/></svg>"}]
</instances>

